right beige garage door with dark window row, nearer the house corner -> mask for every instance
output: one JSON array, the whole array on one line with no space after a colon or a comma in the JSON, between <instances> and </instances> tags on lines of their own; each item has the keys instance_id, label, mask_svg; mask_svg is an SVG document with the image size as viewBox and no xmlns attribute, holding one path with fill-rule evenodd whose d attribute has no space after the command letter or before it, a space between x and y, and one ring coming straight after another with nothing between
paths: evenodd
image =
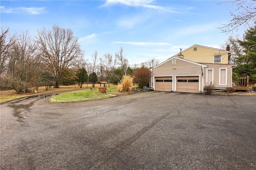
<instances>
[{"instance_id":1,"label":"right beige garage door with dark window row, nearer the house corner","mask_svg":"<svg viewBox=\"0 0 256 170\"><path fill-rule=\"evenodd\" d=\"M177 92L198 93L199 76L176 77Z\"/></svg>"}]
</instances>

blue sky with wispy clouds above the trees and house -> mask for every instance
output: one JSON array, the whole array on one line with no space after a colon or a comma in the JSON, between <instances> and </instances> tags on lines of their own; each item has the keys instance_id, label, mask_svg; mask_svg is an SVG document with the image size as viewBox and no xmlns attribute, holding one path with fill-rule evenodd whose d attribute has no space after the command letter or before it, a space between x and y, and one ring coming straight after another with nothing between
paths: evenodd
<instances>
[{"instance_id":1,"label":"blue sky with wispy clouds above the trees and house","mask_svg":"<svg viewBox=\"0 0 256 170\"><path fill-rule=\"evenodd\" d=\"M28 30L35 35L42 27L56 24L70 28L78 37L86 59L94 51L113 56L120 47L129 64L152 58L160 62L194 44L220 48L231 34L221 24L231 20L230 3L173 0L43 0L0 1L1 26L11 33ZM245 27L235 35L242 37Z\"/></svg>"}]
</instances>

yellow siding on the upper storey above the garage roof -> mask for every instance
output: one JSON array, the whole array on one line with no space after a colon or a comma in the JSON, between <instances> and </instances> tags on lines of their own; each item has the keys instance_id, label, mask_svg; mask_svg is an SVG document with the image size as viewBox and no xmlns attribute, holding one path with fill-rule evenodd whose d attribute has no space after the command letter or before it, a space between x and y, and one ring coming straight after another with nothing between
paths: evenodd
<instances>
[{"instance_id":1,"label":"yellow siding on the upper storey above the garage roof","mask_svg":"<svg viewBox=\"0 0 256 170\"><path fill-rule=\"evenodd\" d=\"M197 51L194 51L194 47L197 47ZM182 52L182 55L184 55L184 59L194 61L196 63L213 63L214 55L222 55L220 64L228 64L228 54L226 51L217 49L193 46Z\"/></svg>"}]
</instances>

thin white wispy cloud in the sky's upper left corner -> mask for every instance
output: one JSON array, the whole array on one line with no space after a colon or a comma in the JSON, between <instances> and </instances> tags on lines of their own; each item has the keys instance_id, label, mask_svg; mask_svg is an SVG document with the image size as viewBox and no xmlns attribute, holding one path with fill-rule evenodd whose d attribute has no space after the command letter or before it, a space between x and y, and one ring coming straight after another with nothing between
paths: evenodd
<instances>
[{"instance_id":1,"label":"thin white wispy cloud in the sky's upper left corner","mask_svg":"<svg viewBox=\"0 0 256 170\"><path fill-rule=\"evenodd\" d=\"M16 8L5 8L0 7L1 13L25 13L29 15L39 15L45 12L44 7L16 7Z\"/></svg>"}]
</instances>

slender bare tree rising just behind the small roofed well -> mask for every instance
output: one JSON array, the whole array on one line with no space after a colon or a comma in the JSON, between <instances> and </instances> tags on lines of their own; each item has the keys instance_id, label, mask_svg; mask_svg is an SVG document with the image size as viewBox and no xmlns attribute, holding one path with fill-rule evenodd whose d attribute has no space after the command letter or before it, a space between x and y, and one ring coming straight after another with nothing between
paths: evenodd
<instances>
[{"instance_id":1,"label":"slender bare tree rising just behind the small roofed well","mask_svg":"<svg viewBox=\"0 0 256 170\"><path fill-rule=\"evenodd\" d=\"M104 75L106 76L108 87L110 87L110 80L114 75L114 69L116 65L116 56L113 59L113 56L111 54L104 54L103 57L100 58L100 65L103 69L102 71L104 72Z\"/></svg>"}]
</instances>

